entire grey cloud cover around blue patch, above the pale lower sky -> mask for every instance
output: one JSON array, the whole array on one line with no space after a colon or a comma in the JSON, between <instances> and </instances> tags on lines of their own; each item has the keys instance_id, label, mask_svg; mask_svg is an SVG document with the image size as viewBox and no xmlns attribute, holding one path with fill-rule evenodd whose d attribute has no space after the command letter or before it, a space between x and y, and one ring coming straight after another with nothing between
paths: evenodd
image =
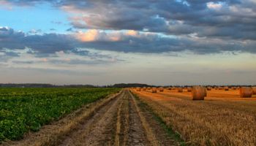
<instances>
[{"instance_id":1,"label":"entire grey cloud cover around blue patch, above the pale lower sky","mask_svg":"<svg viewBox=\"0 0 256 146\"><path fill-rule=\"evenodd\" d=\"M72 24L67 30L69 34L37 31L26 34L1 27L0 49L29 47L38 56L61 50L74 52L78 48L126 53L256 53L256 3L252 0L4 0L1 3L36 7L42 2L69 14Z\"/></svg>"}]
</instances>

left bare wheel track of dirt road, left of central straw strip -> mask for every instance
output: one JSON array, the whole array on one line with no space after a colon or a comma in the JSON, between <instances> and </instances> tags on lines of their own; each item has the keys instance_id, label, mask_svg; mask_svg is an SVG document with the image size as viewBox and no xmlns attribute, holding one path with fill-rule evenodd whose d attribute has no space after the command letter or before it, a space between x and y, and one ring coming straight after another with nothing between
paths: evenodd
<instances>
[{"instance_id":1,"label":"left bare wheel track of dirt road, left of central straw strip","mask_svg":"<svg viewBox=\"0 0 256 146\"><path fill-rule=\"evenodd\" d=\"M64 140L60 146L114 145L116 114L118 112L116 107L121 104L123 97L124 91L116 99L97 111L92 118L80 124L78 130L63 137Z\"/></svg>"}]
</instances>

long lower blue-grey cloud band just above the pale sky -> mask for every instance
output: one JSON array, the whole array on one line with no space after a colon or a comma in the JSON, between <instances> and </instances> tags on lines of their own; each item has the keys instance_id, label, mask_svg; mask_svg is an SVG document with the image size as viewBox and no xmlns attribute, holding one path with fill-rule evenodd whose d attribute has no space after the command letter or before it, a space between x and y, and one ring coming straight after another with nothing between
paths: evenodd
<instances>
[{"instance_id":1,"label":"long lower blue-grey cloud band just above the pale sky","mask_svg":"<svg viewBox=\"0 0 256 146\"><path fill-rule=\"evenodd\" d=\"M88 50L113 50L125 53L165 53L189 50L193 53L221 53L223 51L242 51L256 53L254 40L208 39L196 36L167 37L152 33L127 34L119 31L106 33L97 31L95 40L84 42L76 34L42 34L25 35L12 28L1 28L0 50L19 50L30 48L28 53L37 57L56 55L56 52L74 53L76 55L95 56ZM111 38L117 37L112 40ZM15 52L6 52L7 55L18 56ZM97 55L97 54L96 54ZM98 56L109 57L109 56Z\"/></svg>"}]
</instances>

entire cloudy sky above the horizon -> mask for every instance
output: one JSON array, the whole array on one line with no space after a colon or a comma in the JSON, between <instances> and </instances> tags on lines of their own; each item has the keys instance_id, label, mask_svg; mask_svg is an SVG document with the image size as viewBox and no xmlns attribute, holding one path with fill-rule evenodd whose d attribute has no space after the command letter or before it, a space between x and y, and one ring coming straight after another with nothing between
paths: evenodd
<instances>
[{"instance_id":1,"label":"entire cloudy sky above the horizon","mask_svg":"<svg viewBox=\"0 0 256 146\"><path fill-rule=\"evenodd\" d=\"M255 85L256 0L0 0L0 82Z\"/></svg>"}]
</instances>

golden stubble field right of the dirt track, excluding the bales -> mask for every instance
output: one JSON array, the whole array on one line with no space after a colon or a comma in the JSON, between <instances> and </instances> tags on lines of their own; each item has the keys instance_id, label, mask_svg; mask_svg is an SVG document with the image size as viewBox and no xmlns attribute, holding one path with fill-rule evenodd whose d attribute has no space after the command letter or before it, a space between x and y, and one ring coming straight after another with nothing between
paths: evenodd
<instances>
[{"instance_id":1,"label":"golden stubble field right of the dirt track, excluding the bales","mask_svg":"<svg viewBox=\"0 0 256 146\"><path fill-rule=\"evenodd\" d=\"M192 101L187 92L135 93L192 145L256 145L256 96L213 89L205 101Z\"/></svg>"}]
</instances>

